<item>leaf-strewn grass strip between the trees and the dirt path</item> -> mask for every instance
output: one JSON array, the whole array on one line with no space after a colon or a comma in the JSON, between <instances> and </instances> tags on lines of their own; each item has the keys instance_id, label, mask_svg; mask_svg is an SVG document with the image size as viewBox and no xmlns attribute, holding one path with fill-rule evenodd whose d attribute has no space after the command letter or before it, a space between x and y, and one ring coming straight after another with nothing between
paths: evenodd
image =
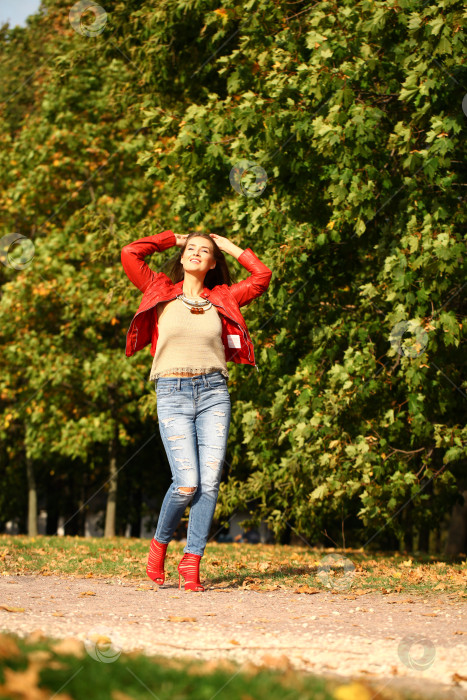
<instances>
[{"instance_id":1,"label":"leaf-strewn grass strip between the trees and the dirt path","mask_svg":"<svg viewBox=\"0 0 467 700\"><path fill-rule=\"evenodd\" d=\"M3 574L40 573L89 578L146 579L149 540L0 535ZM172 542L166 570L173 575L183 545ZM341 555L355 567L344 574L336 562L327 579L320 563ZM440 556L409 556L362 550L318 550L287 545L209 543L202 561L202 579L213 587L253 590L379 591L382 593L457 593L466 595L467 562ZM345 579L344 585L342 579ZM148 580L148 579L146 579ZM347 585L345 585L347 583ZM308 590L307 590L308 589Z\"/></svg>"}]
</instances>

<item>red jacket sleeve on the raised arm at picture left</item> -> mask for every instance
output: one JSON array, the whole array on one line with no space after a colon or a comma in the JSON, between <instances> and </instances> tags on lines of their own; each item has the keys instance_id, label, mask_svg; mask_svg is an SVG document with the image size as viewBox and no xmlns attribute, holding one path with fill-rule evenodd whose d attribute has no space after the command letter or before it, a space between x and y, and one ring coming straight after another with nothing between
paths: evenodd
<instances>
[{"instance_id":1,"label":"red jacket sleeve on the raised arm at picture left","mask_svg":"<svg viewBox=\"0 0 467 700\"><path fill-rule=\"evenodd\" d=\"M130 282L133 282L138 289L145 292L155 276L160 273L151 270L149 265L144 262L144 258L155 251L160 253L175 244L175 234L173 231L168 230L157 233L155 236L140 238L124 246L121 252L121 260L123 269Z\"/></svg>"}]
</instances>

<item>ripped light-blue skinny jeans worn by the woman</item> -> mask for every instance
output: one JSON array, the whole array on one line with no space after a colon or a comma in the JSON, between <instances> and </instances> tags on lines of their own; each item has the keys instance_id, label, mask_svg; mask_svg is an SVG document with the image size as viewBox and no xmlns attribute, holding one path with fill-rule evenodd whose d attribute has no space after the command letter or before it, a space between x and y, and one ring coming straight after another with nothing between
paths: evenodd
<instances>
[{"instance_id":1,"label":"ripped light-blue skinny jeans worn by the woman","mask_svg":"<svg viewBox=\"0 0 467 700\"><path fill-rule=\"evenodd\" d=\"M183 551L203 555L227 449L231 415L227 381L221 372L159 377L156 396L159 431L172 484L162 503L154 537L163 544L170 542L191 501Z\"/></svg>"}]
</instances>

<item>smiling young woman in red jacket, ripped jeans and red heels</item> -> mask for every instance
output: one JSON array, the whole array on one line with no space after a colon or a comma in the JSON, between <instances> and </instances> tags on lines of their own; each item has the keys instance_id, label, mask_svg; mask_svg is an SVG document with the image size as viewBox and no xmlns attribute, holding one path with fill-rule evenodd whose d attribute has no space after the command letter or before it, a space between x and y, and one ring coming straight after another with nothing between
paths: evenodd
<instances>
[{"instance_id":1,"label":"smiling young woman in red jacket, ripped jeans and red heels","mask_svg":"<svg viewBox=\"0 0 467 700\"><path fill-rule=\"evenodd\" d=\"M181 248L170 277L144 258ZM224 253L250 276L231 284ZM185 590L203 591L199 565L216 507L227 448L231 404L227 362L255 365L253 344L240 307L268 288L272 272L250 248L215 233L163 231L122 249L122 265L143 298L127 333L129 357L151 343L150 380L156 383L159 431L172 472L149 550L147 575L165 580L164 560L191 502L187 543L178 565Z\"/></svg>"}]
</instances>

